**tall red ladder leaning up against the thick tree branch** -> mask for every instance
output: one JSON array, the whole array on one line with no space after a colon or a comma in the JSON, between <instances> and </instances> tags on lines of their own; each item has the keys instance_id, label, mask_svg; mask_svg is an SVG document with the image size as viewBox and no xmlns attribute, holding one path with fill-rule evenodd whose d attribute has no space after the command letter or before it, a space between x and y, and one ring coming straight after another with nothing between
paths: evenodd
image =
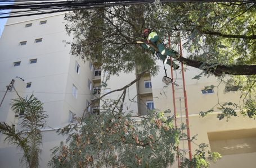
<instances>
[{"instance_id":1,"label":"tall red ladder leaning up against the thick tree branch","mask_svg":"<svg viewBox=\"0 0 256 168\"><path fill-rule=\"evenodd\" d=\"M169 47L170 47L170 36L169 36ZM179 53L180 57L182 57L182 44L181 44L181 37L179 36ZM187 138L179 139L179 142L182 142L182 148L179 148L179 144L177 145L177 160L178 160L178 167L181 167L181 158L179 157L179 153L183 153L186 156L186 152L189 153L189 159L192 160L192 153L191 153L191 141L190 141L190 128L189 128L189 120L188 120L188 108L187 108L187 92L185 87L185 77L184 77L184 69L183 69L183 63L181 62L181 72L182 72L182 78L174 78L173 77L173 68L172 68L172 58L170 57L170 72L171 76L174 82L177 80L180 80L178 82L179 86L176 86L172 83L172 92L173 92L173 109L174 109L174 123L175 128L180 129L181 127L178 127L177 120L179 123L179 126L185 125L185 128L187 130ZM181 82L182 80L182 82ZM177 83L177 82L176 82ZM178 101L178 103L177 103ZM179 112L179 116L177 116L177 113ZM184 115L185 113L185 115ZM185 122L186 121L186 122ZM183 129L181 129L183 133ZM187 141L187 146L185 149L185 142ZM183 155L184 156L184 155Z\"/></svg>"}]
</instances>

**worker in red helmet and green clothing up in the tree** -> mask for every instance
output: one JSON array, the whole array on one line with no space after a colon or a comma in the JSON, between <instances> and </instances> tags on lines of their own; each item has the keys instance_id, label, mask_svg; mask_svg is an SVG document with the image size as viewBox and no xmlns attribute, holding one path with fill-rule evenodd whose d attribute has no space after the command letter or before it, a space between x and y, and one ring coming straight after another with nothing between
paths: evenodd
<instances>
[{"instance_id":1,"label":"worker in red helmet and green clothing up in the tree","mask_svg":"<svg viewBox=\"0 0 256 168\"><path fill-rule=\"evenodd\" d=\"M142 48L150 50L150 52L155 53L156 55L163 60L163 62L169 64L170 66L170 59L167 59L167 56L172 55L172 51L167 49L163 42L159 41L159 36L156 34L156 32L152 31L150 29L145 29L142 32L142 36L146 41L145 43L141 44ZM174 69L178 69L179 66L176 65L174 62L172 62L172 67Z\"/></svg>"}]
</instances>

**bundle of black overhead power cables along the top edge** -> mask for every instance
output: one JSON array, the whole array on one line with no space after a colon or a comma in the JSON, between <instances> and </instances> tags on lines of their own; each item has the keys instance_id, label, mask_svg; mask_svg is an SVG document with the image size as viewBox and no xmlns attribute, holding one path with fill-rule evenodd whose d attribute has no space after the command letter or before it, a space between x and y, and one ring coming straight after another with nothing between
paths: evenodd
<instances>
[{"instance_id":1,"label":"bundle of black overhead power cables along the top edge","mask_svg":"<svg viewBox=\"0 0 256 168\"><path fill-rule=\"evenodd\" d=\"M40 0L0 0L1 10L20 10L0 13L0 18L42 15L56 12L67 12L100 7L127 6L132 4L154 3L155 0L81 0L81 1L40 1ZM255 3L255 0L162 0L161 3ZM9 15L11 14L11 15Z\"/></svg>"}]
</instances>

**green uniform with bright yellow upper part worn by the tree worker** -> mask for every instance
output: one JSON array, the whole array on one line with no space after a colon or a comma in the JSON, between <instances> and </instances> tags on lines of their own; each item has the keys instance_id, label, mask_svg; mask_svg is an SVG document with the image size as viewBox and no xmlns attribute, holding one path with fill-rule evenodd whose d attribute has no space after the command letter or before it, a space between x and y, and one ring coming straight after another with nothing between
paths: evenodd
<instances>
[{"instance_id":1,"label":"green uniform with bright yellow upper part worn by the tree worker","mask_svg":"<svg viewBox=\"0 0 256 168\"><path fill-rule=\"evenodd\" d=\"M163 60L163 62L167 58L167 55L170 56L173 54L172 51L166 49L164 44L159 41L159 36L158 34L156 34L156 32L154 31L150 32L149 37L147 39L150 40L150 42L158 48L158 56L161 60ZM141 45L142 45L142 48L150 50L152 53L155 53L154 48L150 47L149 45L145 43ZM170 59L167 60L167 64L169 64L170 66ZM176 67L177 65L173 62L173 68L176 68Z\"/></svg>"}]
</instances>

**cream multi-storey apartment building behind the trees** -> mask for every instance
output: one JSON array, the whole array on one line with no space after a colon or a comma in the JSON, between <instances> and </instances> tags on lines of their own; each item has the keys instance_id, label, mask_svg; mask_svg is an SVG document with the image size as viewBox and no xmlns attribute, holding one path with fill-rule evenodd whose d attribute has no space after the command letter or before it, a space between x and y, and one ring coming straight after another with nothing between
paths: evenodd
<instances>
[{"instance_id":1,"label":"cream multi-storey apartment building behind the trees","mask_svg":"<svg viewBox=\"0 0 256 168\"><path fill-rule=\"evenodd\" d=\"M106 72L93 62L83 62L70 55L70 45L66 43L71 42L73 37L66 35L63 18L64 13L10 18L0 39L0 97L4 96L6 86L14 79L17 92L21 96L33 93L43 102L44 110L49 115L46 128L43 129L41 167L47 167L51 148L65 139L57 135L56 129L72 122L74 116L82 116L85 110L100 113L100 102L92 106L89 104L100 95L127 85L138 75L134 70L129 74L110 76L107 86L99 87L105 81ZM160 60L157 64L162 67ZM170 74L170 69L167 73ZM211 167L254 167L255 120L239 116L231 118L229 122L219 121L216 118L218 111L205 118L199 117L200 111L207 111L218 102L239 104L240 93L224 92L224 83L219 85L219 80L213 76L192 80L200 73L191 67L187 67L185 72L190 133L192 136L198 134L195 144L192 143L192 151L195 152L196 144L205 142L210 145L210 150L222 154L222 160ZM123 110L132 111L135 115L146 115L147 110L152 109L173 111L172 87L161 81L163 76L164 69L160 68L156 76L146 73L140 81L130 86ZM180 70L174 71L174 77L178 85L181 85ZM214 87L205 91L205 86L210 85ZM106 98L115 99L120 94L114 92ZM16 97L13 90L7 92L0 107L1 122L19 121L21 116L15 116L9 105L10 100ZM178 99L176 103L183 104L183 100ZM179 112L181 118L184 111ZM173 115L173 112L169 115ZM19 164L22 155L20 150L3 142L2 135L0 139L1 167L22 167Z\"/></svg>"}]
</instances>

